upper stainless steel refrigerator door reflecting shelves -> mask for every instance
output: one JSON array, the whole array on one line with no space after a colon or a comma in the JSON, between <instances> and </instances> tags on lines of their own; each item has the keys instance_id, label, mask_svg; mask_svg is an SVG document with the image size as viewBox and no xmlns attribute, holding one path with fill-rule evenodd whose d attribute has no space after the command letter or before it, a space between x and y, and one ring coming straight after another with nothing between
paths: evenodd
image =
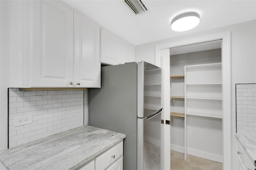
<instances>
[{"instance_id":1,"label":"upper stainless steel refrigerator door reflecting shelves","mask_svg":"<svg viewBox=\"0 0 256 170\"><path fill-rule=\"evenodd\" d=\"M144 118L162 108L162 69L142 61L138 63L138 117Z\"/></svg>"}]
</instances>

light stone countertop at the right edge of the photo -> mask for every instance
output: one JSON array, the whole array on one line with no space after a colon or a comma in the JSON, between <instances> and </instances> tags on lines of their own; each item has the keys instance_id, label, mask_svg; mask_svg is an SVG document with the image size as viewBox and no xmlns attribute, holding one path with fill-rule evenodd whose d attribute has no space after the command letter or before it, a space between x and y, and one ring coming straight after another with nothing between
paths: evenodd
<instances>
[{"instance_id":1,"label":"light stone countertop at the right edge of the photo","mask_svg":"<svg viewBox=\"0 0 256 170\"><path fill-rule=\"evenodd\" d=\"M252 160L254 166L256 166L256 136L238 133L236 133L235 136L248 154L250 160Z\"/></svg>"}]
</instances>

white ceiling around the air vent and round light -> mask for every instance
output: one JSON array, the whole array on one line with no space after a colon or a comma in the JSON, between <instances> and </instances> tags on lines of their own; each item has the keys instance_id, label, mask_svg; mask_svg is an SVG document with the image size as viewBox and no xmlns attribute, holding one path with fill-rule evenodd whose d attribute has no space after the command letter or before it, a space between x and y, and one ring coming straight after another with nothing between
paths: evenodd
<instances>
[{"instance_id":1,"label":"white ceiling around the air vent and round light","mask_svg":"<svg viewBox=\"0 0 256 170\"><path fill-rule=\"evenodd\" d=\"M135 16L123 0L64 0L124 40L139 45L256 19L256 0L142 0L150 12ZM174 32L170 20L185 11L200 14L199 25Z\"/></svg>"}]
</instances>

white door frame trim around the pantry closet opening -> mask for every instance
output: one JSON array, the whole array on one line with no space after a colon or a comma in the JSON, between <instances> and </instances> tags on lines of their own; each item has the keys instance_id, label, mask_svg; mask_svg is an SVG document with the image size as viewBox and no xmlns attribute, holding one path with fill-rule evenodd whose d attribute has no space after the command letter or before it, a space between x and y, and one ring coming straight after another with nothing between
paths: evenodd
<instances>
[{"instance_id":1,"label":"white door frame trim around the pantry closet opening","mask_svg":"<svg viewBox=\"0 0 256 170\"><path fill-rule=\"evenodd\" d=\"M199 36L188 40L179 40L155 46L155 64L160 66L160 50L222 40L222 146L223 169L231 169L231 63L230 63L230 31ZM166 134L165 134L166 135Z\"/></svg>"}]
</instances>

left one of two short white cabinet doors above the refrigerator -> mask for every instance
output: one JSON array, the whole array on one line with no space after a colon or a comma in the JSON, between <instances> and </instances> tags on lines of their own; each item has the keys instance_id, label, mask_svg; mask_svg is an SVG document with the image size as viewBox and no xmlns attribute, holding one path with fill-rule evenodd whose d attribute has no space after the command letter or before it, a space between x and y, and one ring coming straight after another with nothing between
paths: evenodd
<instances>
[{"instance_id":1,"label":"left one of two short white cabinet doors above the refrigerator","mask_svg":"<svg viewBox=\"0 0 256 170\"><path fill-rule=\"evenodd\" d=\"M100 29L100 62L110 65L122 63L121 38L104 28Z\"/></svg>"}]
</instances>

